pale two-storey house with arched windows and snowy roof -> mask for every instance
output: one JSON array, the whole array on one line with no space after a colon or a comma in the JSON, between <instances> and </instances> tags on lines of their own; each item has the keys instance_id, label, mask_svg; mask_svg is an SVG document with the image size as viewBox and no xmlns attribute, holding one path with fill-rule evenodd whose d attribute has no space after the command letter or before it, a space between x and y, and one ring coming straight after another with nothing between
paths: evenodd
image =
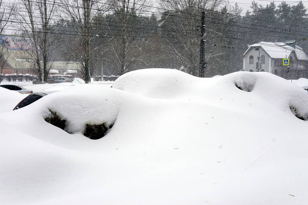
<instances>
[{"instance_id":1,"label":"pale two-storey house with arched windows and snowy roof","mask_svg":"<svg viewBox=\"0 0 308 205\"><path fill-rule=\"evenodd\" d=\"M283 59L289 65L283 65ZM286 79L308 77L308 56L294 41L260 42L248 45L243 55L243 69L250 72L264 71Z\"/></svg>"}]
</instances>

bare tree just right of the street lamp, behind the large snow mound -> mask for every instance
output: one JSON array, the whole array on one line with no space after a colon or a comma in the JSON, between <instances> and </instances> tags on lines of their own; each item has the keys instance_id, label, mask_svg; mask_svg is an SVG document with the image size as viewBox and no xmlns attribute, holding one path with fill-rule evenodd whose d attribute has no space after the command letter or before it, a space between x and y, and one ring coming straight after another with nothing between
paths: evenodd
<instances>
[{"instance_id":1,"label":"bare tree just right of the street lamp, behind the large snow mound","mask_svg":"<svg viewBox=\"0 0 308 205\"><path fill-rule=\"evenodd\" d=\"M112 0L111 8L115 11L120 23L120 32L113 31L112 25L108 25L109 29L109 47L107 53L116 66L117 74L122 75L129 71L128 65L148 64L146 57L148 54L142 52L142 48L149 45L146 35L142 34L142 27L139 25L139 33L136 32L136 22L141 14L151 10L151 1L149 0ZM118 27L119 28L119 27ZM136 34L136 37L135 37ZM144 41L142 41L144 40Z\"/></svg>"}]
</instances>

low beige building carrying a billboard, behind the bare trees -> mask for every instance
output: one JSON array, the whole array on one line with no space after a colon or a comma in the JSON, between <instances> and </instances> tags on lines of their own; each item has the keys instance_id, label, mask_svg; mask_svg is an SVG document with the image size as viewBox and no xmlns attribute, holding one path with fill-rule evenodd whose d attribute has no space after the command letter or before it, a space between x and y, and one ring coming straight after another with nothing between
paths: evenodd
<instances>
[{"instance_id":1,"label":"low beige building carrying a billboard, behind the bare trees","mask_svg":"<svg viewBox=\"0 0 308 205\"><path fill-rule=\"evenodd\" d=\"M16 40L17 39L17 40ZM29 60L34 54L29 42L19 37L0 35L0 49L2 51L2 74L31 74L36 75L36 70ZM1 63L2 64L2 63ZM43 66L43 62L41 62ZM1 66L1 65L0 65ZM48 62L50 75L72 75L79 77L82 65L78 62Z\"/></svg>"}]
</instances>

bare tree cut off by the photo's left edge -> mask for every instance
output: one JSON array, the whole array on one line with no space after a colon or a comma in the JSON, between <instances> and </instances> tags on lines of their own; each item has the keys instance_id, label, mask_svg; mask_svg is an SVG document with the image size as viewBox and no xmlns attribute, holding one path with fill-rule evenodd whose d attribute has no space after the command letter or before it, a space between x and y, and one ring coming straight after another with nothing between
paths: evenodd
<instances>
[{"instance_id":1,"label":"bare tree cut off by the photo's left edge","mask_svg":"<svg viewBox=\"0 0 308 205\"><path fill-rule=\"evenodd\" d=\"M5 2L0 0L0 35L4 34L5 29L11 25L10 20L13 15L13 7L9 7ZM9 57L10 50L6 49L7 42L1 40L0 45L0 83L2 81L3 66Z\"/></svg>"}]
</instances>

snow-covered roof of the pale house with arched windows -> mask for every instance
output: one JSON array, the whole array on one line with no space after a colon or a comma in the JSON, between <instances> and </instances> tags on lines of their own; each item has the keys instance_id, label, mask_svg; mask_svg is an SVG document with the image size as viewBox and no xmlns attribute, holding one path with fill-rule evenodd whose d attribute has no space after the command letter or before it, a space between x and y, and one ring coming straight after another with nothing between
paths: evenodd
<instances>
[{"instance_id":1,"label":"snow-covered roof of the pale house with arched windows","mask_svg":"<svg viewBox=\"0 0 308 205\"><path fill-rule=\"evenodd\" d=\"M290 54L292 53L292 51L295 51L295 49L293 47L286 45L285 43L282 43L282 42L273 43L273 42L263 42L263 41L261 41L260 43L255 43L253 45L248 45L248 46L249 46L249 48L244 53L244 56L249 51L250 48L259 47L259 46L262 49L264 49L265 52L271 58L288 58L290 56ZM303 53L303 51L301 51L300 53ZM299 59L299 60L304 60L304 59Z\"/></svg>"}]
</instances>

